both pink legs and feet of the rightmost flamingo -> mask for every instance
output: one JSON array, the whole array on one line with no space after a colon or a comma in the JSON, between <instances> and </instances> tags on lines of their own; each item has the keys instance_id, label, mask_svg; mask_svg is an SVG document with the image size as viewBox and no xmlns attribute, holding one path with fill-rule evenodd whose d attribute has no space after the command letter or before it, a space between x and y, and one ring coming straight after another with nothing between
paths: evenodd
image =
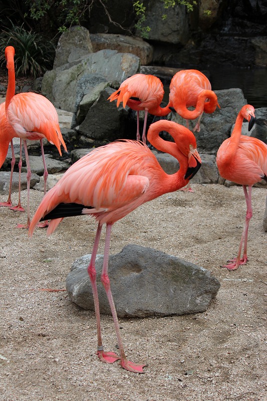
<instances>
[{"instance_id":1,"label":"both pink legs and feet of the rightmost flamingo","mask_svg":"<svg viewBox=\"0 0 267 401\"><path fill-rule=\"evenodd\" d=\"M252 186L248 186L248 193L246 186L243 185L244 195L245 195L245 202L246 202L246 217L245 217L245 225L243 229L243 233L241 236L241 241L238 249L237 257L234 259L230 259L227 265L223 265L221 267L226 267L228 270L236 270L239 265L245 265L247 262L247 236L248 236L248 226L249 221L252 217L252 205L251 205L251 193L252 193ZM244 244L243 249L243 256L241 258L242 252L242 245ZM231 263L232 262L232 263Z\"/></svg>"}]
</instances>

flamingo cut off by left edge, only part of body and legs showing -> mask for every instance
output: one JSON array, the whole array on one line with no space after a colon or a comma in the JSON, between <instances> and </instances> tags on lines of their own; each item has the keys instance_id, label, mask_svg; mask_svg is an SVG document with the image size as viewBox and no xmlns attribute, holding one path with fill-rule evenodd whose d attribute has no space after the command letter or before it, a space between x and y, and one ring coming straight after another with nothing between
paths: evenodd
<instances>
[{"instance_id":1,"label":"flamingo cut off by left edge, only part of body and legs showing","mask_svg":"<svg viewBox=\"0 0 267 401\"><path fill-rule=\"evenodd\" d=\"M15 93L14 93L15 95ZM21 205L21 180L19 179L19 203L17 206L12 206L11 191L12 191L12 178L15 165L15 152L13 145L13 138L19 137L14 128L10 125L6 117L6 104L1 103L0 105L0 168L2 167L9 150L9 144L11 145L12 160L11 160L11 174L10 174L10 187L9 197L7 202L0 202L0 206L7 206L14 211L24 212L24 208ZM22 160L19 162L19 172L21 176Z\"/></svg>"}]
</instances>

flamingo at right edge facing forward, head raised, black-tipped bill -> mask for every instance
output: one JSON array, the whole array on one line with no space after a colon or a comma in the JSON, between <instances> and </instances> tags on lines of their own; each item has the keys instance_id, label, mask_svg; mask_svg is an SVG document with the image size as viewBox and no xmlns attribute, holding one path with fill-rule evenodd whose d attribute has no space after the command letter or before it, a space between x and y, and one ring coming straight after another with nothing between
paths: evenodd
<instances>
[{"instance_id":1,"label":"flamingo at right edge facing forward, head raised, black-tipped bill","mask_svg":"<svg viewBox=\"0 0 267 401\"><path fill-rule=\"evenodd\" d=\"M217 166L220 175L243 186L246 202L246 218L237 257L228 261L225 267L236 270L247 262L248 225L252 217L252 185L262 178L267 181L267 145L257 138L241 135L243 119L248 121L248 130L255 121L254 107L246 104L239 111L230 138L225 139L217 152ZM247 190L248 186L248 190ZM243 246L243 256L241 251Z\"/></svg>"}]
</instances>

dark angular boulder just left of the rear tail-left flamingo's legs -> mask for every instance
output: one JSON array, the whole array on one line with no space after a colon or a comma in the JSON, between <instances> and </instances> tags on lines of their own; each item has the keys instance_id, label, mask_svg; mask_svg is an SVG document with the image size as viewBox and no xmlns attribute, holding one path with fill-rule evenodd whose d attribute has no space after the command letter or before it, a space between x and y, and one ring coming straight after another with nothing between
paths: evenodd
<instances>
[{"instance_id":1,"label":"dark angular boulder just left of the rear tail-left flamingo's legs","mask_svg":"<svg viewBox=\"0 0 267 401\"><path fill-rule=\"evenodd\" d=\"M125 138L124 131L129 107L124 109L120 105L117 108L116 102L107 101L113 92L111 88L102 91L99 99L89 109L85 120L79 126L79 133L98 144Z\"/></svg>"}]
</instances>

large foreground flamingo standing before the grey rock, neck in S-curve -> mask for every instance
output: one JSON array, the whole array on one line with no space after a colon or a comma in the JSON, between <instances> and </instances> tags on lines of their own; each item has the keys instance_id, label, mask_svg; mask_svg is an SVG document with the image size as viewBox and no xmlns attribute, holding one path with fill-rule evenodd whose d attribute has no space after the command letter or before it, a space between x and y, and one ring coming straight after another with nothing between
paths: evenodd
<instances>
[{"instance_id":1,"label":"large foreground flamingo standing before the grey rock, neck in S-curve","mask_svg":"<svg viewBox=\"0 0 267 401\"><path fill-rule=\"evenodd\" d=\"M168 131L174 142L164 141L160 131ZM179 170L166 174L155 155L141 141L121 140L99 147L74 163L44 196L29 230L32 236L40 220L53 219L47 229L52 234L66 216L92 215L98 222L88 274L93 289L97 322L97 355L103 362L120 360L126 370L143 373L145 365L127 360L119 330L108 277L108 258L111 229L115 222L128 215L138 206L163 193L184 186L201 166L196 150L194 134L175 122L160 120L150 125L148 140L157 149L168 152L179 161ZM96 285L95 260L103 224L106 224L106 240L101 282L110 304L118 339L120 356L104 352L100 311Z\"/></svg>"}]
</instances>

